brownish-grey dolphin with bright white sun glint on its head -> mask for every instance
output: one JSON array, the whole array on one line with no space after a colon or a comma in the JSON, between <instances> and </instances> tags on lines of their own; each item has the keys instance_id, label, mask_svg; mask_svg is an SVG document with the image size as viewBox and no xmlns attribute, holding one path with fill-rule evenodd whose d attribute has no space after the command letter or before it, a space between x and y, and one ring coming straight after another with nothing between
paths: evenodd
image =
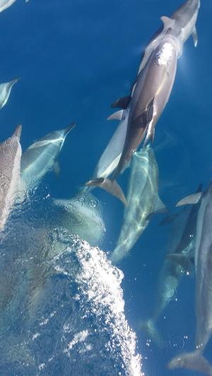
<instances>
[{"instance_id":1,"label":"brownish-grey dolphin with bright white sun glint on its head","mask_svg":"<svg viewBox=\"0 0 212 376\"><path fill-rule=\"evenodd\" d=\"M171 20L170 28L173 23L174 21ZM119 114L115 113L110 116L110 119L124 119L128 116L122 155L110 183L106 178L86 183L90 186L98 185L112 195L117 195L120 200L122 200L123 193L121 188L117 192L115 179L124 166L130 162L132 154L139 147L145 135L145 144L150 138L153 139L155 123L167 104L175 80L178 47L175 38L169 35L169 30L158 47L153 50L148 63L139 74L129 109L121 110L121 114L118 111Z\"/></svg>"}]
</instances>

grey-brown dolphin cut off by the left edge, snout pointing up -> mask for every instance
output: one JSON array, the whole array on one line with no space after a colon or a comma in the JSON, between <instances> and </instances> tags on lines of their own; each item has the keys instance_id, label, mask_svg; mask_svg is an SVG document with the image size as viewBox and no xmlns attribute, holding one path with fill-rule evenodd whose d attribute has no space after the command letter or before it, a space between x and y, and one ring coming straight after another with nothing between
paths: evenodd
<instances>
[{"instance_id":1,"label":"grey-brown dolphin cut off by the left edge, snout pointing up","mask_svg":"<svg viewBox=\"0 0 212 376\"><path fill-rule=\"evenodd\" d=\"M22 126L0 144L0 231L4 229L20 178L20 133Z\"/></svg>"}]
</instances>

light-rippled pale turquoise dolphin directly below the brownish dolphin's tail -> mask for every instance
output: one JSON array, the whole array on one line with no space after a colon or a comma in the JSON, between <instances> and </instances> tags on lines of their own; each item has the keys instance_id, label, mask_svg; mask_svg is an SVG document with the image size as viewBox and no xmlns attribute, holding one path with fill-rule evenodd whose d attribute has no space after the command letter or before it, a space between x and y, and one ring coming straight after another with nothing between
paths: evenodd
<instances>
[{"instance_id":1,"label":"light-rippled pale turquoise dolphin directly below the brownish dolphin's tail","mask_svg":"<svg viewBox=\"0 0 212 376\"><path fill-rule=\"evenodd\" d=\"M122 229L110 257L114 264L129 254L148 226L151 214L165 211L158 197L158 164L149 146L133 155L126 199Z\"/></svg>"}]
</instances>

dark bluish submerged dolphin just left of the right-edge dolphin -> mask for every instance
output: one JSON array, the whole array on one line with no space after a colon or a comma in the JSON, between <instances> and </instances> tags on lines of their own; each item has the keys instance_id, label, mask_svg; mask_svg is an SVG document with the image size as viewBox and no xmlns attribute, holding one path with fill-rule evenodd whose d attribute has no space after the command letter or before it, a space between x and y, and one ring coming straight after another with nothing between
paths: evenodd
<instances>
[{"instance_id":1,"label":"dark bluish submerged dolphin just left of the right-edge dolphin","mask_svg":"<svg viewBox=\"0 0 212 376\"><path fill-rule=\"evenodd\" d=\"M196 192L199 193L201 190L202 184ZM179 213L165 218L161 223L171 224L167 255L158 278L153 315L140 325L141 329L144 329L159 347L163 347L163 340L156 328L156 322L175 296L183 275L189 275L193 271L198 211L199 205L190 205L184 207Z\"/></svg>"}]
</instances>

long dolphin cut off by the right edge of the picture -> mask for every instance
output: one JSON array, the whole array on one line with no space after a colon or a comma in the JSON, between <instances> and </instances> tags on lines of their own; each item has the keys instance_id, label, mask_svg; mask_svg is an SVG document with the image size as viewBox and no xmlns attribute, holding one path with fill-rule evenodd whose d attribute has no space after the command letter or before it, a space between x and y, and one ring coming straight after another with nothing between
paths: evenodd
<instances>
[{"instance_id":1,"label":"long dolphin cut off by the right edge of the picture","mask_svg":"<svg viewBox=\"0 0 212 376\"><path fill-rule=\"evenodd\" d=\"M194 250L196 274L196 346L192 353L173 358L168 368L187 368L212 375L212 366L203 356L212 332L212 182L205 193L196 193L178 205L194 204L201 198Z\"/></svg>"}]
</instances>

